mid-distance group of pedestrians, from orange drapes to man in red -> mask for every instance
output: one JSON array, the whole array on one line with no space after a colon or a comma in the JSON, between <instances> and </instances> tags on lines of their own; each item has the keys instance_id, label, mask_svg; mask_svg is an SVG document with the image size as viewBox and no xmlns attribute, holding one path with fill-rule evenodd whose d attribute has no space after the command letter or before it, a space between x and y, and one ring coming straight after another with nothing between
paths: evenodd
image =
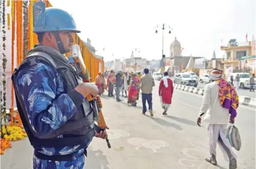
<instances>
[{"instance_id":1,"label":"mid-distance group of pedestrians, from orange drapes to man in red","mask_svg":"<svg viewBox=\"0 0 256 169\"><path fill-rule=\"evenodd\" d=\"M98 94L102 95L105 90L108 91L109 97L114 97L117 102L121 102L120 93L124 98L127 98L127 104L132 107L137 107L137 100L139 99L139 92L142 93L142 114L147 112L146 102L148 103L148 111L151 116L154 116L152 111L152 89L155 86L154 78L149 74L148 69L144 69L144 75L141 73L127 73L118 71L115 73L111 70L105 82L104 74L98 73L96 77L96 85L98 87ZM162 103L163 115L167 115L168 108L171 105L172 94L174 87L172 80L168 76L168 72L164 73L162 81L159 85L159 96ZM125 95L124 95L125 94Z\"/></svg>"}]
</instances>

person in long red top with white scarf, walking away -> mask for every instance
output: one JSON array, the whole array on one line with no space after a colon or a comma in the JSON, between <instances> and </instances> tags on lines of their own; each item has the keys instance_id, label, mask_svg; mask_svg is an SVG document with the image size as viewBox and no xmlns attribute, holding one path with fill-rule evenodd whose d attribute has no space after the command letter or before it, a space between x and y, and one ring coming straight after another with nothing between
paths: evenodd
<instances>
[{"instance_id":1,"label":"person in long red top with white scarf, walking away","mask_svg":"<svg viewBox=\"0 0 256 169\"><path fill-rule=\"evenodd\" d=\"M163 115L167 115L167 111L172 103L172 95L174 93L174 85L172 79L169 77L168 72L164 72L164 77L160 81L158 94L160 102L164 109Z\"/></svg>"}]
</instances>

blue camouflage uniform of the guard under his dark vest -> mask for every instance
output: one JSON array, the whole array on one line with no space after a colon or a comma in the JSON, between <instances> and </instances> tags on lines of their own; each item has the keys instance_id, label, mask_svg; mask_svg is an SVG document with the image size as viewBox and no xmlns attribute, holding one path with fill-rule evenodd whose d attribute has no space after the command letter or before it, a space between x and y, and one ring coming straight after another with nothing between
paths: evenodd
<instances>
[{"instance_id":1,"label":"blue camouflage uniform of the guard under his dark vest","mask_svg":"<svg viewBox=\"0 0 256 169\"><path fill-rule=\"evenodd\" d=\"M53 132L76 113L77 107L73 100L65 94L63 79L49 65L38 63L27 69L22 69L19 71L17 79L18 86L16 87L24 100L28 117L30 117L30 124L39 136ZM81 94L80 96L81 99L84 99L84 96ZM52 100L54 101L52 102ZM63 104L68 108L64 108ZM83 153L88 145L57 148L47 146L34 147L35 150L46 155L65 155L75 152L73 160L70 162L42 160L34 156L34 168L83 168Z\"/></svg>"}]
</instances>

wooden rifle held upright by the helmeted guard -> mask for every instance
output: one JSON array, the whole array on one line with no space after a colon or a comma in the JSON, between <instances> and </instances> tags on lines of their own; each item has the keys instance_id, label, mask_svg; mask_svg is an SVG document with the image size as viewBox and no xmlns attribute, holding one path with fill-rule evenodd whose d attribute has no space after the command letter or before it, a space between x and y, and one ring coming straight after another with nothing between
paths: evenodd
<instances>
[{"instance_id":1,"label":"wooden rifle held upright by the helmeted guard","mask_svg":"<svg viewBox=\"0 0 256 169\"><path fill-rule=\"evenodd\" d=\"M82 60L82 55L80 52L79 45L74 44L72 45L72 58L73 61L78 64L82 70L82 81L83 82L90 82L89 77L85 78L85 75L88 73L86 70L86 66L84 64L84 60ZM101 108L102 108L102 102L100 96L96 96L96 98L93 98L92 95L86 96L86 100L92 105L93 109L93 117L94 120L97 121L98 126L96 125L96 131L100 133L102 130L106 130L106 122L104 120L104 116L102 114ZM108 138L106 138L106 142L108 144L109 149L111 148L111 145L109 143Z\"/></svg>"}]
</instances>

